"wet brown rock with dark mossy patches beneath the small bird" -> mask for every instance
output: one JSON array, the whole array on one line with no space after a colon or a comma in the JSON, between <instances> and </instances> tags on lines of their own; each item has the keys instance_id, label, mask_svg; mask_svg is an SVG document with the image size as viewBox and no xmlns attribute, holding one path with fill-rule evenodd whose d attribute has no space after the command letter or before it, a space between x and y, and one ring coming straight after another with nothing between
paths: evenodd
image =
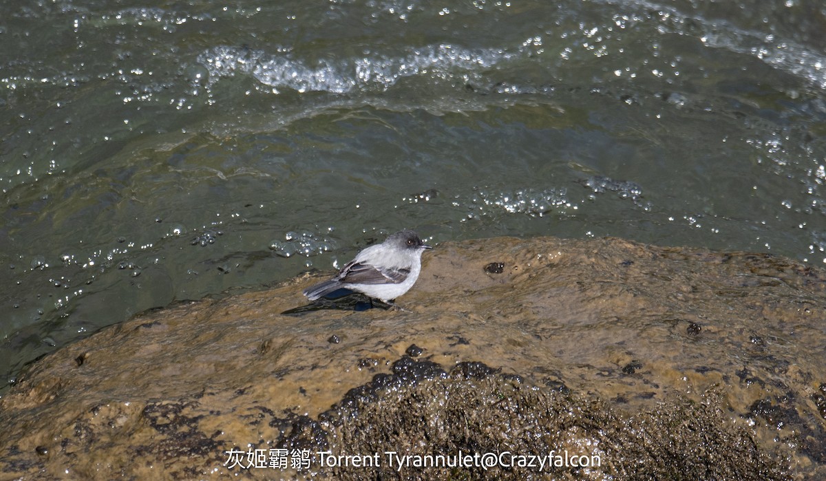
<instances>
[{"instance_id":1,"label":"wet brown rock with dark mossy patches beneath the small bird","mask_svg":"<svg viewBox=\"0 0 826 481\"><path fill-rule=\"evenodd\" d=\"M295 311L315 280L148 312L37 361L0 399L0 479L826 476L820 269L500 238L425 255L403 310Z\"/></svg>"}]
</instances>

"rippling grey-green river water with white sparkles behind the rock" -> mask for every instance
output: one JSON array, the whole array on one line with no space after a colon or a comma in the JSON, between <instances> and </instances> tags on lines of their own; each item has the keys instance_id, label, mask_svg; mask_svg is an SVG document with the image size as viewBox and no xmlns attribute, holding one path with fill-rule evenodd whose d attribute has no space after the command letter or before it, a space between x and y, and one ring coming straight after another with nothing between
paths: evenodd
<instances>
[{"instance_id":1,"label":"rippling grey-green river water with white sparkles behind the rock","mask_svg":"<svg viewBox=\"0 0 826 481\"><path fill-rule=\"evenodd\" d=\"M826 262L816 0L0 9L3 381L403 227Z\"/></svg>"}]
</instances>

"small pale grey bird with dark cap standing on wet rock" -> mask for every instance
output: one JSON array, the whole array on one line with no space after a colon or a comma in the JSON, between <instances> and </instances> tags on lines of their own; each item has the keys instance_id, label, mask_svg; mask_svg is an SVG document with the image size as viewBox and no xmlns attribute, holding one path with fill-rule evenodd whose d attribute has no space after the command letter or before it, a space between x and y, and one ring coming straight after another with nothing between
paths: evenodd
<instances>
[{"instance_id":1,"label":"small pale grey bird with dark cap standing on wet rock","mask_svg":"<svg viewBox=\"0 0 826 481\"><path fill-rule=\"evenodd\" d=\"M419 279L421 253L425 249L433 248L425 245L414 231L396 232L381 244L359 252L333 279L304 289L304 295L315 301L344 288L390 302L409 291Z\"/></svg>"}]
</instances>

